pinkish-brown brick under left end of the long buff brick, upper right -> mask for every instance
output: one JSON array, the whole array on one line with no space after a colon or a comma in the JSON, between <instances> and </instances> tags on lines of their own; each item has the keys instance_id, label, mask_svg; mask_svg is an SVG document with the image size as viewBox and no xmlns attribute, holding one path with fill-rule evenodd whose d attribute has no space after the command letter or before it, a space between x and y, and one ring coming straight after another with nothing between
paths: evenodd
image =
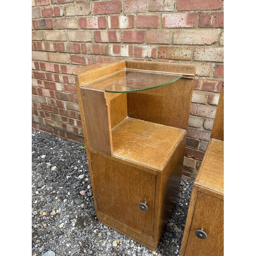
<instances>
[{"instance_id":1,"label":"pinkish-brown brick under left end of the long buff brick, upper right","mask_svg":"<svg viewBox=\"0 0 256 256\"><path fill-rule=\"evenodd\" d=\"M158 58L191 60L192 47L159 46Z\"/></svg>"}]
</instances>

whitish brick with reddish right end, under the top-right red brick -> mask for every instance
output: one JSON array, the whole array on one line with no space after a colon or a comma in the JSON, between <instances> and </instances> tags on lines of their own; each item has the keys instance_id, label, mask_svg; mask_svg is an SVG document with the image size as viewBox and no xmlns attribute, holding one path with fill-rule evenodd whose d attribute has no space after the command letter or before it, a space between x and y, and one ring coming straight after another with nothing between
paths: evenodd
<instances>
[{"instance_id":1,"label":"whitish brick with reddish right end, under the top-right red brick","mask_svg":"<svg viewBox=\"0 0 256 256\"><path fill-rule=\"evenodd\" d=\"M162 14L163 28L195 28L197 13L168 13Z\"/></svg>"}]
</instances>

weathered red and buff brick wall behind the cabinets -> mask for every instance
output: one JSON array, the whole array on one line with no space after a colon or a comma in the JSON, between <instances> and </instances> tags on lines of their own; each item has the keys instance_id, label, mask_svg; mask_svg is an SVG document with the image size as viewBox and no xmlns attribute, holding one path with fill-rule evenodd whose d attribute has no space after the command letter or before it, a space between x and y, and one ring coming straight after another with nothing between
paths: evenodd
<instances>
[{"instance_id":1,"label":"weathered red and buff brick wall behind the cabinets","mask_svg":"<svg viewBox=\"0 0 256 256\"><path fill-rule=\"evenodd\" d=\"M122 59L197 66L183 175L203 158L223 84L222 0L32 0L32 131L83 143L72 70Z\"/></svg>"}]
</instances>

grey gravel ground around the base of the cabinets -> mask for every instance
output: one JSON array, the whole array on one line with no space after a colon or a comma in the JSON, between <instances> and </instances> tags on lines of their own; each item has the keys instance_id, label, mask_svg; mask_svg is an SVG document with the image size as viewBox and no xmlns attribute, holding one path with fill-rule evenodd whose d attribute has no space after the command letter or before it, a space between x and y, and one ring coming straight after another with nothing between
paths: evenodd
<instances>
[{"instance_id":1,"label":"grey gravel ground around the base of the cabinets","mask_svg":"<svg viewBox=\"0 0 256 256\"><path fill-rule=\"evenodd\" d=\"M98 221L87 156L79 146L32 133L32 255L179 255L193 181L182 178L176 207L152 251Z\"/></svg>"}]
</instances>

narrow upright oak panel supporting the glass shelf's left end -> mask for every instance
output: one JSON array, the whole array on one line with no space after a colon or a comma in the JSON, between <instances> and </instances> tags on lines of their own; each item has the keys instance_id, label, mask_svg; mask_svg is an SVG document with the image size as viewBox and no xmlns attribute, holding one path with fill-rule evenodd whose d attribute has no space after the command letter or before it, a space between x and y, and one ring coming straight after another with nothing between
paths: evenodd
<instances>
[{"instance_id":1,"label":"narrow upright oak panel supporting the glass shelf's left end","mask_svg":"<svg viewBox=\"0 0 256 256\"><path fill-rule=\"evenodd\" d=\"M81 99L89 148L112 155L110 111L104 91L82 87Z\"/></svg>"}]
</instances>

